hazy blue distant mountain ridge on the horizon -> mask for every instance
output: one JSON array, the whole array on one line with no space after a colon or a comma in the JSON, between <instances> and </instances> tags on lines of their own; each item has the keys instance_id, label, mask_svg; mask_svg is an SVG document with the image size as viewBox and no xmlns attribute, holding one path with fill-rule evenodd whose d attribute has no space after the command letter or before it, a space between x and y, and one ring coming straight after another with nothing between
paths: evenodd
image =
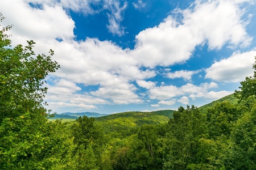
<instances>
[{"instance_id":1,"label":"hazy blue distant mountain ridge on the horizon","mask_svg":"<svg viewBox=\"0 0 256 170\"><path fill-rule=\"evenodd\" d=\"M108 114L101 114L96 112L81 112L81 113L71 113L71 112L64 112L64 113L57 113L52 119L60 119L60 118L70 118L70 119L77 119L82 116L87 117L102 117L108 116Z\"/></svg>"}]
</instances>

